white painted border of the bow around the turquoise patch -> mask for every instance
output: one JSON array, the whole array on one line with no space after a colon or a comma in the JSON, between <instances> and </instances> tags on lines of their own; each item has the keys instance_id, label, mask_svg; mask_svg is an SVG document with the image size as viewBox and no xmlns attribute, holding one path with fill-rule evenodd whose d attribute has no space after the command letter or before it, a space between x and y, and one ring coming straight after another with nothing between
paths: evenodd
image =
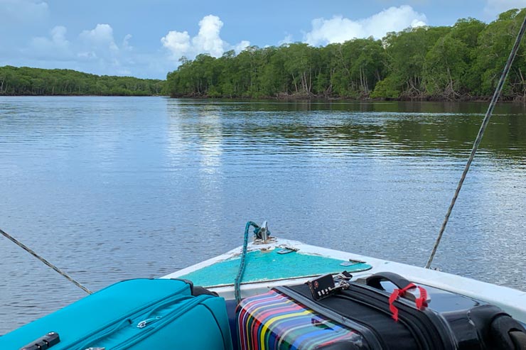
<instances>
[{"instance_id":1,"label":"white painted border of the bow around the turquoise patch","mask_svg":"<svg viewBox=\"0 0 526 350\"><path fill-rule=\"evenodd\" d=\"M452 275L451 273L429 270L426 268L410 266L403 263L395 263L393 261L371 258L369 256L363 256L355 253L346 253L343 251L336 251L333 249L311 246L308 244L303 244L299 241L291 241L286 239L277 239L277 241L270 244L250 244L249 250L256 250L261 248L272 249L277 246L287 246L299 249L301 253L316 254L340 260L351 259L355 261L365 261L367 264L372 266L372 269L364 271L362 273L353 273L354 278L365 277L366 275L371 275L377 272L388 271L398 273L399 275L403 275L405 278L415 283L431 285L435 288L449 290L451 292L456 292L461 295L466 295L468 297L473 297L475 299L483 300L493 305L497 305L506 312L508 312L510 315L512 315L512 317L515 317L521 322L526 323L526 292L522 292L520 290L503 287L500 285L493 285L490 283L485 283L478 280L473 280L471 278L461 277L458 275ZM238 247L220 256L216 256L215 258L211 258L207 261L203 261L193 266L189 266L188 268L183 268L182 270L178 270L174 273L163 276L163 278L178 278L181 275L186 275L187 273L199 270L200 268L204 268L206 266L210 266L213 263L223 261L227 258L231 258L232 256L239 255L240 253L241 247ZM342 266L342 270L345 270L345 267ZM222 297L225 297L225 299L227 300L233 299L234 278L235 276L232 276L232 285L212 289L218 292ZM284 279L278 281L264 281L260 283L244 283L242 284L241 288L242 297L248 297L250 295L255 295L260 292L265 292L270 288L277 287L278 285L304 283L307 279L308 278L298 278Z\"/></svg>"}]
</instances>

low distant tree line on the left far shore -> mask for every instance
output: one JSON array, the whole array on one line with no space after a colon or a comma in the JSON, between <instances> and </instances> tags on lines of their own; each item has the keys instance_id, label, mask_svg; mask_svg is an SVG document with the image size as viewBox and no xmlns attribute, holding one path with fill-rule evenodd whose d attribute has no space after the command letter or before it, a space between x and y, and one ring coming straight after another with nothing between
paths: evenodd
<instances>
[{"instance_id":1,"label":"low distant tree line on the left far shore","mask_svg":"<svg viewBox=\"0 0 526 350\"><path fill-rule=\"evenodd\" d=\"M0 67L0 95L115 95L161 94L163 80L92 75L75 70Z\"/></svg>"}]
</instances>

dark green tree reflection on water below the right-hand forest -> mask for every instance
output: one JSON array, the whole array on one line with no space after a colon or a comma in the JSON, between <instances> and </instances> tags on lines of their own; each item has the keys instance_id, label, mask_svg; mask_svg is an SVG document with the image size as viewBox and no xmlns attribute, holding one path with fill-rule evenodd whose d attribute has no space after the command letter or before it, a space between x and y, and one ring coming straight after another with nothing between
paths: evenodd
<instances>
[{"instance_id":1,"label":"dark green tree reflection on water below the right-hand forest","mask_svg":"<svg viewBox=\"0 0 526 350\"><path fill-rule=\"evenodd\" d=\"M465 156L486 108L485 103L185 100L172 116L187 119L182 127L188 133L205 139L210 133L221 133L231 146L264 142L326 148L331 153ZM213 127L206 118L210 110L215 111ZM499 105L481 149L500 157L525 158L526 107Z\"/></svg>"}]
</instances>

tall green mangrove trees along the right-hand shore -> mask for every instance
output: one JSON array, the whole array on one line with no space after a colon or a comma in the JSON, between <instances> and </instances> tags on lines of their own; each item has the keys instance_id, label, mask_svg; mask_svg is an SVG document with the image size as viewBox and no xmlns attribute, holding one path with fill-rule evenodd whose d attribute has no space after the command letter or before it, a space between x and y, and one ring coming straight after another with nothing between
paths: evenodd
<instances>
[{"instance_id":1,"label":"tall green mangrove trees along the right-hand shore","mask_svg":"<svg viewBox=\"0 0 526 350\"><path fill-rule=\"evenodd\" d=\"M483 23L408 28L382 40L353 39L325 47L291 43L252 46L220 58L181 59L168 73L172 97L325 97L474 99L493 93L526 11ZM526 100L526 51L521 45L503 92Z\"/></svg>"}]
</instances>

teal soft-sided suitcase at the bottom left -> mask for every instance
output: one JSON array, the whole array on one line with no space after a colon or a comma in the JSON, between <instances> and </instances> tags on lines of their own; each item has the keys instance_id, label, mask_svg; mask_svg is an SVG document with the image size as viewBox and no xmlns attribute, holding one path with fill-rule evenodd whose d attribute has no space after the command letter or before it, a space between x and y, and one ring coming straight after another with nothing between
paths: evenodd
<instances>
[{"instance_id":1,"label":"teal soft-sided suitcase at the bottom left","mask_svg":"<svg viewBox=\"0 0 526 350\"><path fill-rule=\"evenodd\" d=\"M1 350L232 350L225 300L188 281L110 285L0 337Z\"/></svg>"}]
</instances>

